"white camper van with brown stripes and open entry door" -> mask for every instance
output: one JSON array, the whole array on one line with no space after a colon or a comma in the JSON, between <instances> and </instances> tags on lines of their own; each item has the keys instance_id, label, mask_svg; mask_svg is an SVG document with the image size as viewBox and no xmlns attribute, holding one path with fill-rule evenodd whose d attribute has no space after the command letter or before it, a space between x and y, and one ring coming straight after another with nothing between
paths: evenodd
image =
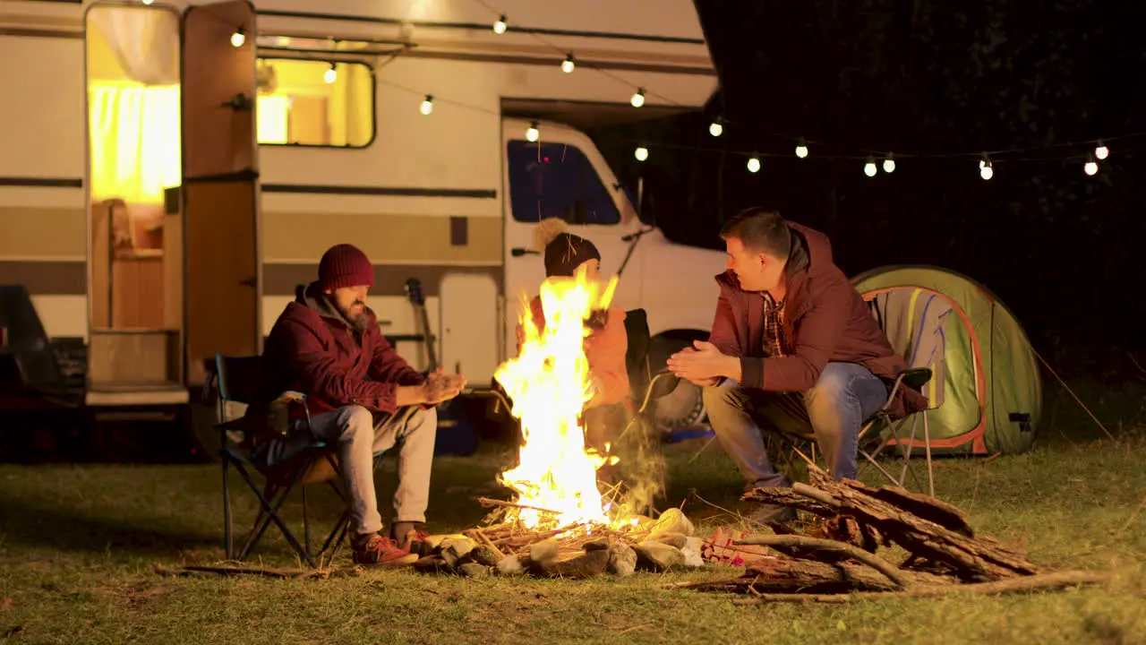
<instances>
[{"instance_id":1,"label":"white camper van with brown stripes and open entry door","mask_svg":"<svg viewBox=\"0 0 1146 645\"><path fill-rule=\"evenodd\" d=\"M2 0L0 60L0 283L85 340L89 406L187 403L339 242L399 352L492 387L548 217L623 264L660 347L707 337L723 255L667 240L583 133L702 108L688 0Z\"/></svg>"}]
</instances>

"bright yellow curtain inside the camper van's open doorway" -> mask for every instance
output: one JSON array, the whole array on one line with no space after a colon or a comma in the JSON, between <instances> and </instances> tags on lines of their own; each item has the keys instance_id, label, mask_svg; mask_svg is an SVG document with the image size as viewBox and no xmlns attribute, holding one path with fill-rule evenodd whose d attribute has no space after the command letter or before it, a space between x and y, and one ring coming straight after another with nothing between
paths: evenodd
<instances>
[{"instance_id":1,"label":"bright yellow curtain inside the camper van's open doorway","mask_svg":"<svg viewBox=\"0 0 1146 645\"><path fill-rule=\"evenodd\" d=\"M91 84L92 197L163 203L180 177L179 86Z\"/></svg>"}]
</instances>

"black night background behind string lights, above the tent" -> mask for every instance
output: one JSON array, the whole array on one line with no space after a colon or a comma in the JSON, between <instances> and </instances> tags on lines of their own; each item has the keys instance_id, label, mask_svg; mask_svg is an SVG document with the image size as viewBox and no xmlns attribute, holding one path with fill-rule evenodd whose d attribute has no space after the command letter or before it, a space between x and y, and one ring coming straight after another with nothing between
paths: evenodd
<instances>
[{"instance_id":1,"label":"black night background behind string lights, above the tent","mask_svg":"<svg viewBox=\"0 0 1146 645\"><path fill-rule=\"evenodd\" d=\"M1146 376L1130 360L1146 364L1146 135L1127 137L1146 132L1141 3L697 5L722 86L707 112L592 133L670 238L722 248L724 218L771 205L827 233L849 275L933 264L982 282L1065 376ZM990 181L983 150L1014 150ZM752 174L752 151L777 156ZM866 177L887 151L895 172Z\"/></svg>"}]
</instances>

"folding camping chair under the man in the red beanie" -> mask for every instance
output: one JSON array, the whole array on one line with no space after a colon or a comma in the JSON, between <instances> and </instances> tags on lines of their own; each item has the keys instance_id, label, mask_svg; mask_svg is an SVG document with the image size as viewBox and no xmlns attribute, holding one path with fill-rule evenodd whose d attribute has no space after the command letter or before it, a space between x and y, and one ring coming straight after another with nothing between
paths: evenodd
<instances>
[{"instance_id":1,"label":"folding camping chair under the man in the red beanie","mask_svg":"<svg viewBox=\"0 0 1146 645\"><path fill-rule=\"evenodd\" d=\"M230 410L236 404L246 405L256 399L260 378L259 362L260 357L258 356L230 357L215 353L214 368L209 371L210 379L207 387L204 388L204 397L206 397L211 391L212 381L218 383L215 389L218 394L219 422L215 423L215 427L219 429L219 452L222 460L223 530L226 533L225 545L227 559L237 561L246 559L254 549L254 545L262 537L267 527L269 527L270 522L274 522L282 531L283 537L286 538L286 542L298 553L299 558L306 560L312 567L317 567L315 559L321 560L328 551L330 552L329 558L333 559L338 552L350 526L350 507L347 505L344 508L342 516L335 523L322 547L317 552L314 552L311 547L311 522L307 516L307 488L309 484L329 483L335 495L345 504L347 496L338 485L342 481L342 473L331 446L325 442L315 441L299 453L289 457L284 463L276 464L273 468L266 469L266 472L260 471L266 479L264 489L260 490L254 483L250 471L259 471L259 468L251 460L252 456L241 445L243 438L242 426L240 425L241 419L238 418L241 415L231 414ZM301 404L304 410L306 409L306 396L304 394L284 393L284 397L289 397L295 402L288 404ZM309 423L309 411L306 412L306 419L307 423ZM378 460L377 456L375 456L375 467L377 465ZM230 487L228 481L231 467L238 472L240 476L259 499L259 514L252 524L251 531L248 534L246 541L237 550L235 549L231 528ZM278 514L283 502L285 502L296 487L303 489L303 543L299 543L295 534L286 526L286 522Z\"/></svg>"}]
</instances>

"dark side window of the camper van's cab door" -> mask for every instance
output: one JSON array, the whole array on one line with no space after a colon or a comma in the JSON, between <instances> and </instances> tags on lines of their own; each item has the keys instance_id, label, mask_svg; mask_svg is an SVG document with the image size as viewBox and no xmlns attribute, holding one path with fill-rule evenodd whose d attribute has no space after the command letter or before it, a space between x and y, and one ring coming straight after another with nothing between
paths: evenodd
<instances>
[{"instance_id":1,"label":"dark side window of the camper van's cab door","mask_svg":"<svg viewBox=\"0 0 1146 645\"><path fill-rule=\"evenodd\" d=\"M619 224L621 213L597 171L567 143L510 141L510 207L518 222L560 217L570 224Z\"/></svg>"}]
</instances>

